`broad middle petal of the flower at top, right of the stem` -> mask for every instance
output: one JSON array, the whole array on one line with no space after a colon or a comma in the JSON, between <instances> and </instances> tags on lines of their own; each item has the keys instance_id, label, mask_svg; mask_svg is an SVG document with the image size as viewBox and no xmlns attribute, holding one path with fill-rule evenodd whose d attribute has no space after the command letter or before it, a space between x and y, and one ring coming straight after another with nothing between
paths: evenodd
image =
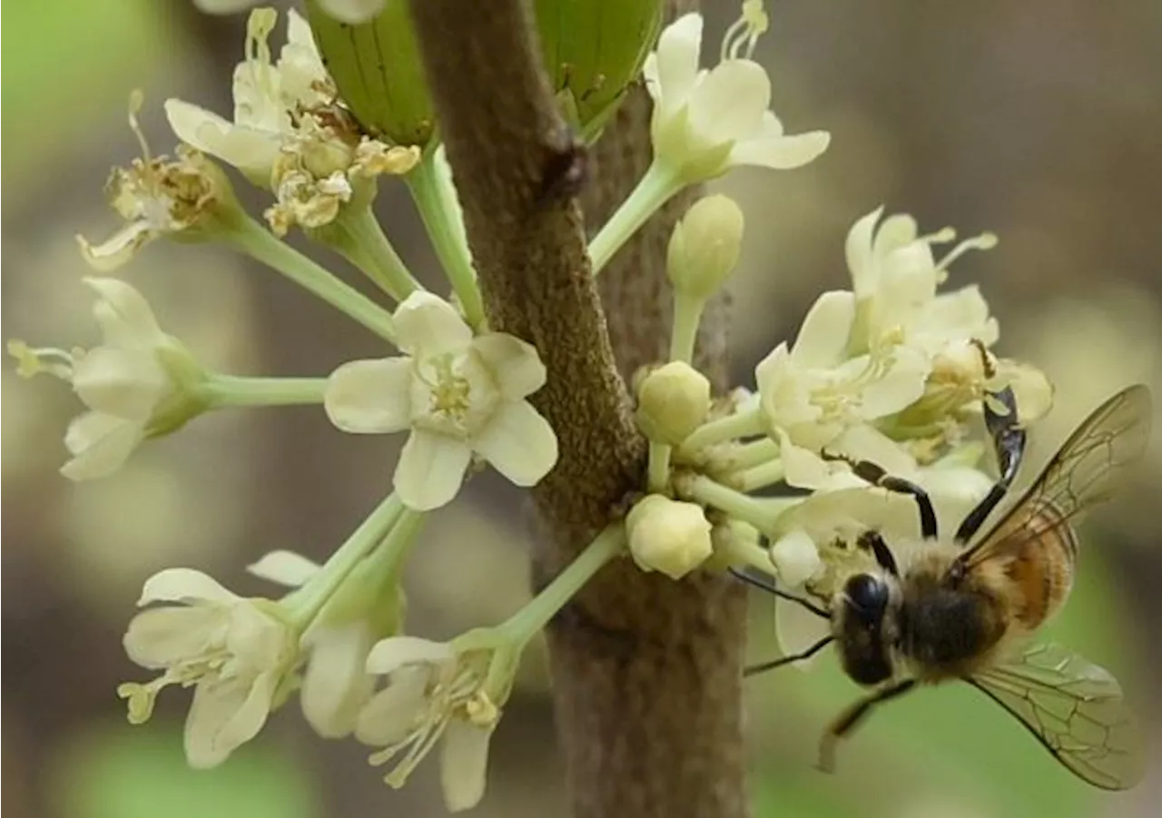
<instances>
[{"instance_id":1,"label":"broad middle petal of the flower at top, right of the stem","mask_svg":"<svg viewBox=\"0 0 1162 818\"><path fill-rule=\"evenodd\" d=\"M743 142L761 134L770 103L770 78L749 59L710 70L690 94L690 128L698 148Z\"/></svg>"}]
</instances>

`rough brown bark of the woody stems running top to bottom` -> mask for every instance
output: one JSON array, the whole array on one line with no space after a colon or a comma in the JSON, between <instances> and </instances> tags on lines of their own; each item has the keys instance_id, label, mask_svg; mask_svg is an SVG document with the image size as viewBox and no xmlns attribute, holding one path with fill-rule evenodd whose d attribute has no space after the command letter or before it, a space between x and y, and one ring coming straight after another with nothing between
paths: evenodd
<instances>
[{"instance_id":1,"label":"rough brown bark of the woody stems running top to bottom","mask_svg":"<svg viewBox=\"0 0 1162 818\"><path fill-rule=\"evenodd\" d=\"M548 368L535 402L557 430L561 460L533 491L548 532L535 564L539 584L641 485L644 446L618 367L629 376L665 356L665 247L682 203L602 273L607 323L573 182L587 166L583 198L600 223L648 163L648 98L631 92L586 160L557 114L526 3L411 8L489 322L536 344ZM710 310L700 350L719 386L723 310ZM744 615L727 582L673 582L625 560L554 619L555 710L579 817L746 815Z\"/></svg>"}]
</instances>

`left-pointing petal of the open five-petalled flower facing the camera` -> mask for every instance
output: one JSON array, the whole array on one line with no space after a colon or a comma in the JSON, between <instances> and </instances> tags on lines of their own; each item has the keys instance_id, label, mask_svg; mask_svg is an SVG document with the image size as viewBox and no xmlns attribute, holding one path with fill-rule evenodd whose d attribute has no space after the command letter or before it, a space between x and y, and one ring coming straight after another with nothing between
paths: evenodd
<instances>
[{"instance_id":1,"label":"left-pointing petal of the open five-petalled flower facing the camera","mask_svg":"<svg viewBox=\"0 0 1162 818\"><path fill-rule=\"evenodd\" d=\"M323 409L337 428L357 435L402 431L411 422L410 358L353 360L327 379Z\"/></svg>"}]
</instances>

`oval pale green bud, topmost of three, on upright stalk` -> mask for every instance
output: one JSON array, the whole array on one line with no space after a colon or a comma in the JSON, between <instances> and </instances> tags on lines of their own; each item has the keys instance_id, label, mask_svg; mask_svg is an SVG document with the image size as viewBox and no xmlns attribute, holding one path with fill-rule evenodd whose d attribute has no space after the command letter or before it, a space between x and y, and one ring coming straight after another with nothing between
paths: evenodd
<instances>
[{"instance_id":1,"label":"oval pale green bud, topmost of three, on upright stalk","mask_svg":"<svg viewBox=\"0 0 1162 818\"><path fill-rule=\"evenodd\" d=\"M680 294L705 301L738 264L743 210L715 194L694 203L669 237L666 272Z\"/></svg>"}]
</instances>

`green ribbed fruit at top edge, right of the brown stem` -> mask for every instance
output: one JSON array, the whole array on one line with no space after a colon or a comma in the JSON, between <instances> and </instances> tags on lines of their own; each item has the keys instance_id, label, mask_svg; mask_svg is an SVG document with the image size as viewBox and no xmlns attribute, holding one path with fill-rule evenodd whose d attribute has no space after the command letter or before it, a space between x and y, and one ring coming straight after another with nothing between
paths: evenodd
<instances>
[{"instance_id":1,"label":"green ribbed fruit at top edge, right of the brown stem","mask_svg":"<svg viewBox=\"0 0 1162 818\"><path fill-rule=\"evenodd\" d=\"M578 132L593 142L658 40L661 0L536 0L545 67Z\"/></svg>"}]
</instances>

